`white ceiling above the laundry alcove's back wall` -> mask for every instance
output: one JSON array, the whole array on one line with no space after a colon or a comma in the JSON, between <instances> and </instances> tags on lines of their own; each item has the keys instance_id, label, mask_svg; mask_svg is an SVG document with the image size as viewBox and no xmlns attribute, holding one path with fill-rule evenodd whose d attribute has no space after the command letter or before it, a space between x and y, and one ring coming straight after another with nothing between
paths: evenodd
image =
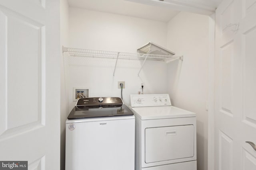
<instances>
[{"instance_id":1,"label":"white ceiling above the laundry alcove's back wall","mask_svg":"<svg viewBox=\"0 0 256 170\"><path fill-rule=\"evenodd\" d=\"M107 12L162 22L170 21L174 16L176 16L176 14L178 14L178 12L180 12L178 10L164 8L163 6L141 4L131 1L136 0L68 0L68 4L70 7L84 8L87 10ZM157 2L156 0L152 1ZM180 1L184 2L189 0ZM205 5L215 8L218 6L220 1L221 0L193 0L193 3L197 2L202 4L203 2Z\"/></svg>"}]
</instances>

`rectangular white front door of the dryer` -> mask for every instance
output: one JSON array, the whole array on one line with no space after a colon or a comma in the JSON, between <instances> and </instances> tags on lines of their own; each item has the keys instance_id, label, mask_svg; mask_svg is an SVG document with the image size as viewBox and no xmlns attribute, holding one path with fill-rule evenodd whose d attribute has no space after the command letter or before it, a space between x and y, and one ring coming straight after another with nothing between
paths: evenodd
<instances>
[{"instance_id":1,"label":"rectangular white front door of the dryer","mask_svg":"<svg viewBox=\"0 0 256 170\"><path fill-rule=\"evenodd\" d=\"M194 125L145 129L145 162L194 156Z\"/></svg>"}]
</instances>

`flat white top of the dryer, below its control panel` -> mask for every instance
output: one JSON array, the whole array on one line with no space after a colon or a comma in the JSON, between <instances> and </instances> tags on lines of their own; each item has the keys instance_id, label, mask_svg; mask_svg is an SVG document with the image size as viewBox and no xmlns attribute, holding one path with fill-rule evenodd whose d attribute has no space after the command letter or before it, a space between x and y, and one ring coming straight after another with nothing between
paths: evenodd
<instances>
[{"instance_id":1,"label":"flat white top of the dryer, below its control panel","mask_svg":"<svg viewBox=\"0 0 256 170\"><path fill-rule=\"evenodd\" d=\"M174 106L130 107L141 120L196 117L196 113Z\"/></svg>"}]
</instances>

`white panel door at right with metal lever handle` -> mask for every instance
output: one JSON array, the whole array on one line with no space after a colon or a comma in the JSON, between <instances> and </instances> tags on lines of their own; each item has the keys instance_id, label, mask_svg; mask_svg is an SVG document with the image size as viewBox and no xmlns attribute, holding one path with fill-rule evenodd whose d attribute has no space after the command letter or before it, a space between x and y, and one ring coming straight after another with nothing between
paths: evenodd
<instances>
[{"instance_id":1,"label":"white panel door at right with metal lever handle","mask_svg":"<svg viewBox=\"0 0 256 170\"><path fill-rule=\"evenodd\" d=\"M255 170L256 0L216 10L215 169Z\"/></svg>"}]
</instances>

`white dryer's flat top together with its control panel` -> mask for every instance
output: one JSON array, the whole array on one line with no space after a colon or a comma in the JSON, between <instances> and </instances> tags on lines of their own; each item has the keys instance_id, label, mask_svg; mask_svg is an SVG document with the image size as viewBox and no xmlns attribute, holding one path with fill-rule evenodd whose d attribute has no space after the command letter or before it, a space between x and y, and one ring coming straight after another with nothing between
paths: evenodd
<instances>
[{"instance_id":1,"label":"white dryer's flat top together with its control panel","mask_svg":"<svg viewBox=\"0 0 256 170\"><path fill-rule=\"evenodd\" d=\"M130 104L141 120L196 117L196 113L171 106L168 94L131 94Z\"/></svg>"}]
</instances>

